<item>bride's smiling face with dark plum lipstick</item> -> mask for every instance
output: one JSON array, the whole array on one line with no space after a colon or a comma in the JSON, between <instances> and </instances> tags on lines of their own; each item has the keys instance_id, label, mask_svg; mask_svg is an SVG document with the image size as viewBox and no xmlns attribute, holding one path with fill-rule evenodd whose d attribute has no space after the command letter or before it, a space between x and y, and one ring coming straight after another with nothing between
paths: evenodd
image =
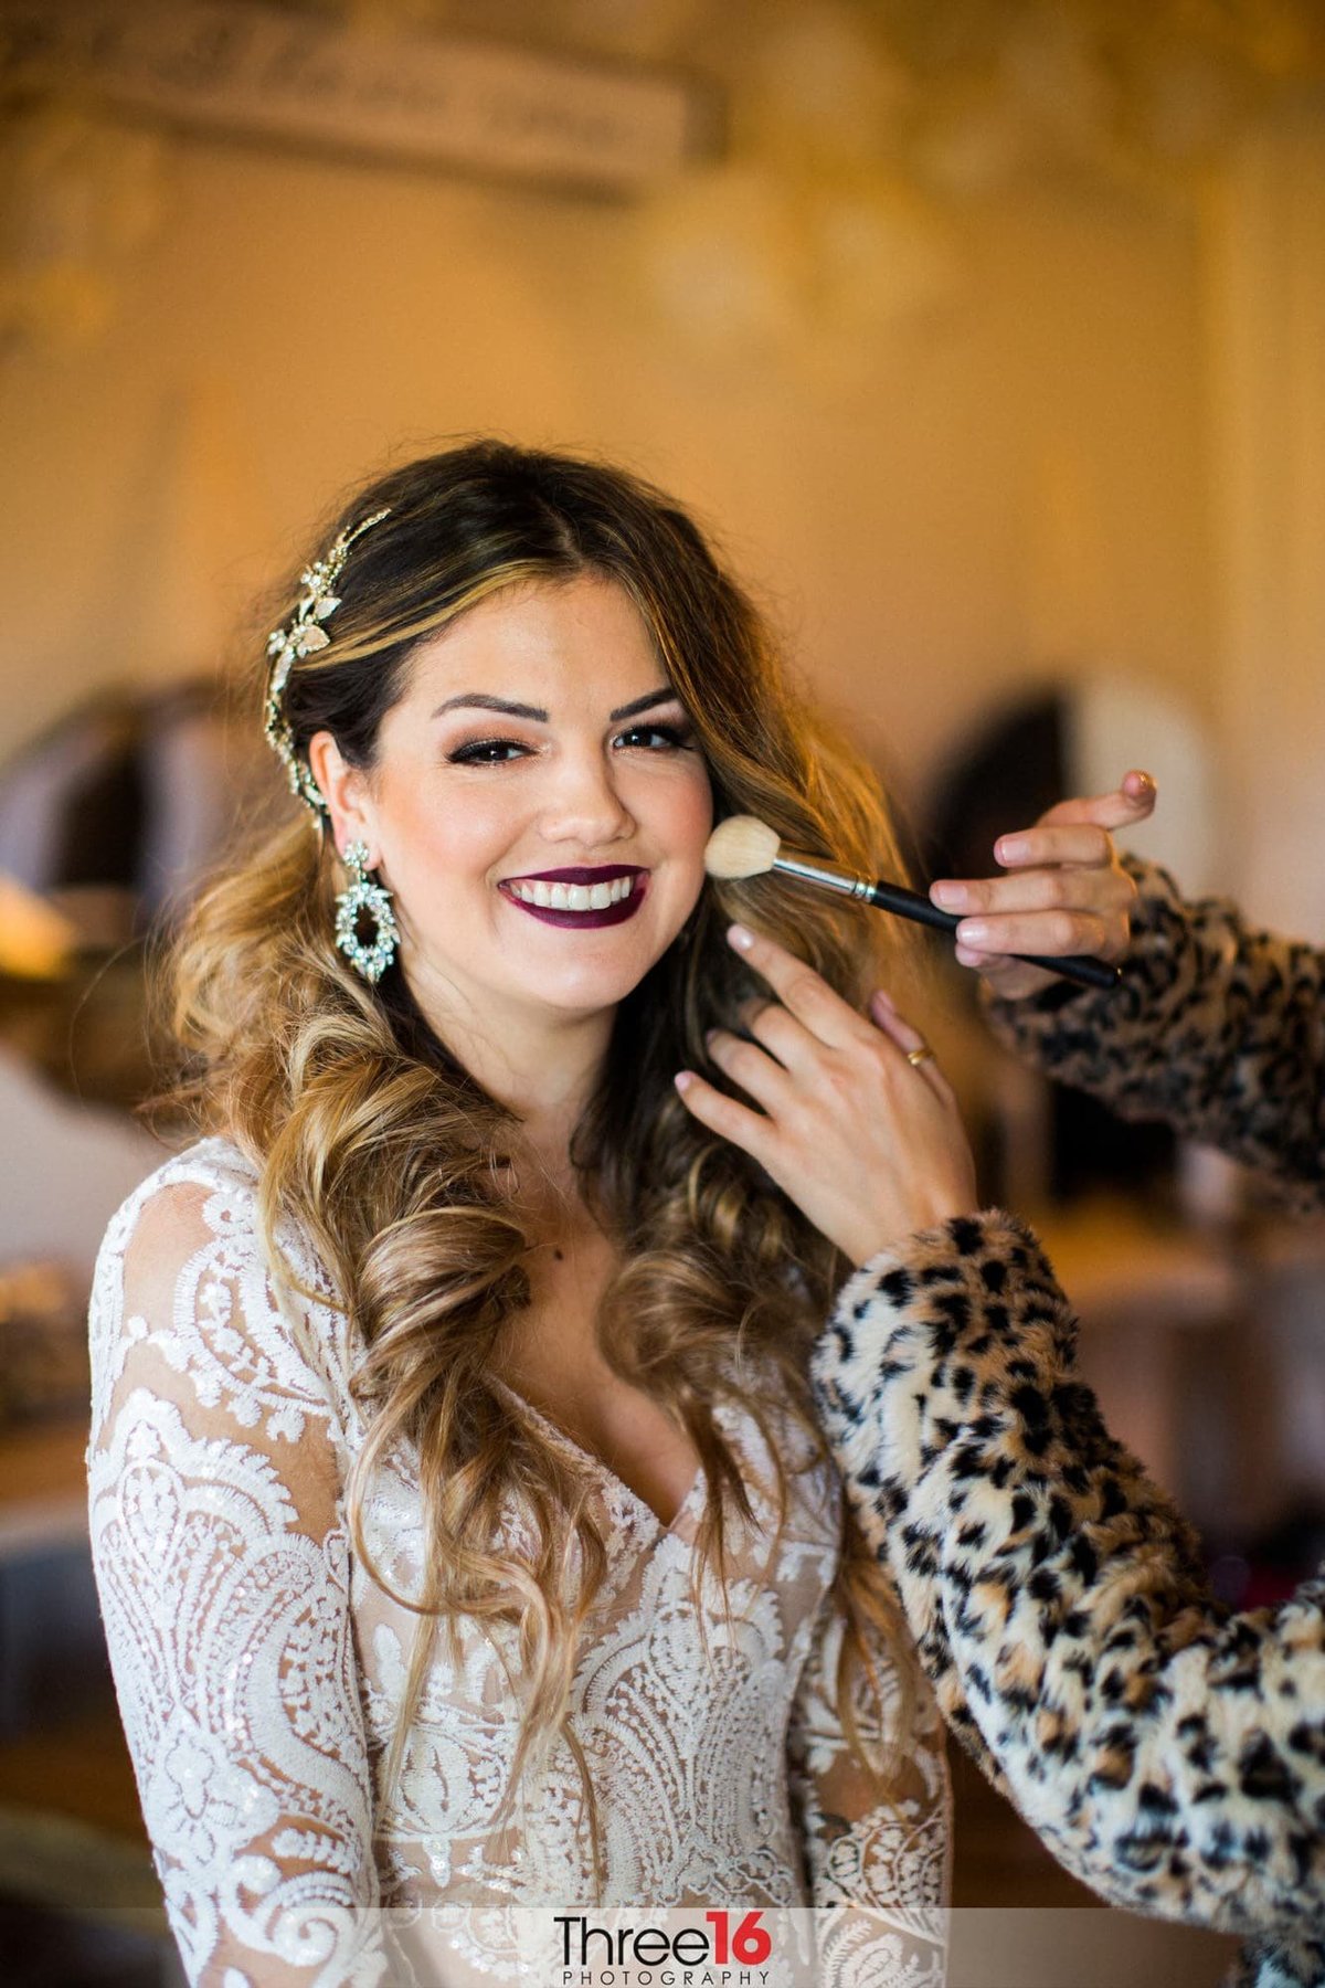
<instances>
[{"instance_id":1,"label":"bride's smiling face with dark plum lipstick","mask_svg":"<svg viewBox=\"0 0 1325 1988\"><path fill-rule=\"evenodd\" d=\"M330 740L320 734L320 740ZM415 650L371 773L314 773L395 897L425 1012L485 1032L616 1006L703 885L709 775L630 596L515 586ZM336 787L336 793L332 791Z\"/></svg>"}]
</instances>

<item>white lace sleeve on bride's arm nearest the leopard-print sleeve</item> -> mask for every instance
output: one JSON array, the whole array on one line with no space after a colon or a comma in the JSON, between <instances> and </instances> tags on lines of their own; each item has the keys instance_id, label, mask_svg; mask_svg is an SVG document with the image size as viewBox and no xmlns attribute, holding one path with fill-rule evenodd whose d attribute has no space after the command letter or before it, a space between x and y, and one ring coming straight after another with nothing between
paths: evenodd
<instances>
[{"instance_id":1,"label":"white lace sleeve on bride's arm nearest the leopard-print sleeve","mask_svg":"<svg viewBox=\"0 0 1325 1988\"><path fill-rule=\"evenodd\" d=\"M822 1988L942 1988L952 1795L944 1726L916 1676L902 1726L898 1652L872 1644L878 1696L856 1666L858 1732L882 1743L886 1775L850 1745L836 1710L844 1620L820 1612L789 1732L791 1789L805 1841Z\"/></svg>"}]
</instances>

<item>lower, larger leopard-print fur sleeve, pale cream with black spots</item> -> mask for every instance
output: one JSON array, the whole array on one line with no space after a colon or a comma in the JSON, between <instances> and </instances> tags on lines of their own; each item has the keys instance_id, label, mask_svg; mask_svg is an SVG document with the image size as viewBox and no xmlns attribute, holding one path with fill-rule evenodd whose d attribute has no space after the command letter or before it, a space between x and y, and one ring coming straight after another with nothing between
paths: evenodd
<instances>
[{"instance_id":1,"label":"lower, larger leopard-print fur sleeve, pale cream with black spots","mask_svg":"<svg viewBox=\"0 0 1325 1988\"><path fill-rule=\"evenodd\" d=\"M1283 1928L1248 1978L1325 1980L1325 1580L1224 1610L1075 1332L999 1211L874 1256L814 1354L838 1469L944 1714L1055 1855L1132 1910Z\"/></svg>"}]
</instances>

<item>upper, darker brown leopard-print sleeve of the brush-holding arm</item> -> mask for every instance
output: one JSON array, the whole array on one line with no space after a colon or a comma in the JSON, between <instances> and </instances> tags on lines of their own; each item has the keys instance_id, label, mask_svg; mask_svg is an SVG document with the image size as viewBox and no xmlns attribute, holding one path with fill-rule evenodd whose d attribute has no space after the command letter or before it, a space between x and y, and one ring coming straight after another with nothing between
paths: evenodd
<instances>
[{"instance_id":1,"label":"upper, darker brown leopard-print sleeve of the brush-holding arm","mask_svg":"<svg viewBox=\"0 0 1325 1988\"><path fill-rule=\"evenodd\" d=\"M1122 980L989 1000L995 1032L1047 1076L1122 1117L1166 1119L1315 1207L1325 1197L1325 952L1248 926L1220 899L1184 903L1126 857L1140 897Z\"/></svg>"}]
</instances>

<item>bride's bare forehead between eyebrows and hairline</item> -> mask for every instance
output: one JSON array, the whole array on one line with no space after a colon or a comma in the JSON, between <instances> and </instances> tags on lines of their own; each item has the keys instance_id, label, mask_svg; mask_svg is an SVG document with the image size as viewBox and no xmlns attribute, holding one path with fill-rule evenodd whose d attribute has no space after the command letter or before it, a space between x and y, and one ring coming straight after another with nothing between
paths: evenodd
<instances>
[{"instance_id":1,"label":"bride's bare forehead between eyebrows and hairline","mask_svg":"<svg viewBox=\"0 0 1325 1988\"><path fill-rule=\"evenodd\" d=\"M572 580L507 586L455 626L427 636L411 656L409 696L522 692L526 702L546 704L602 694L622 704L632 690L665 682L654 638L626 588L582 573Z\"/></svg>"}]
</instances>

